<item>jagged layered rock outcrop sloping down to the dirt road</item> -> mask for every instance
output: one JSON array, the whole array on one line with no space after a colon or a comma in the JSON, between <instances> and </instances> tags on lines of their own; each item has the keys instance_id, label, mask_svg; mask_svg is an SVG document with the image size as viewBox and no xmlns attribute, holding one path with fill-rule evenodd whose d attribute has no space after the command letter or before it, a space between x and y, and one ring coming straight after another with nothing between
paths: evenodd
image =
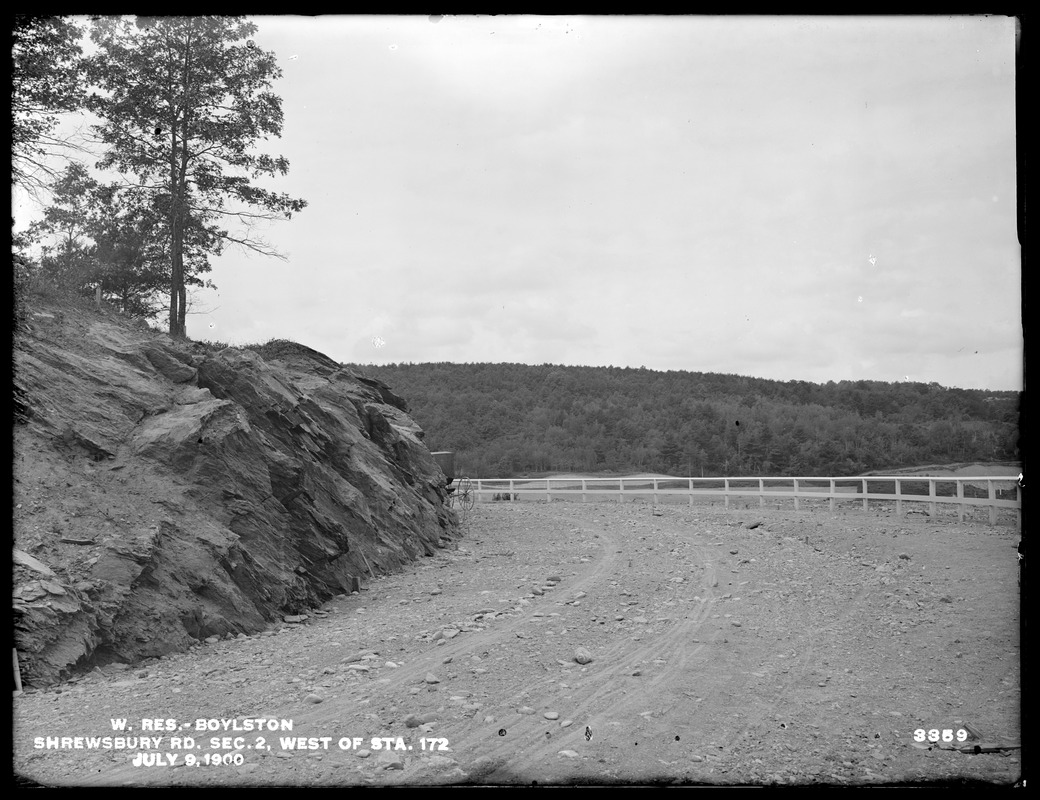
<instances>
[{"instance_id":1,"label":"jagged layered rock outcrop sloping down to the dirt road","mask_svg":"<svg viewBox=\"0 0 1040 800\"><path fill-rule=\"evenodd\" d=\"M28 685L257 633L458 535L405 402L308 347L36 305L15 370Z\"/></svg>"}]
</instances>

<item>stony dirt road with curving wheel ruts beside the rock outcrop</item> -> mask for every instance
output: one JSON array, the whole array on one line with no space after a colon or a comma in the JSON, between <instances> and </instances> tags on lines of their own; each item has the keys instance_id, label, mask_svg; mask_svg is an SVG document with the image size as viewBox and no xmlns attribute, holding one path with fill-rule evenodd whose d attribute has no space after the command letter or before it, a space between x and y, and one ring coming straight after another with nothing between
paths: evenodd
<instances>
[{"instance_id":1,"label":"stony dirt road with curving wheel ruts beside the rock outcrop","mask_svg":"<svg viewBox=\"0 0 1040 800\"><path fill-rule=\"evenodd\" d=\"M17 697L16 772L177 786L1021 776L1012 524L491 502L465 526L458 549L306 620ZM966 739L929 743L932 729Z\"/></svg>"}]
</instances>

